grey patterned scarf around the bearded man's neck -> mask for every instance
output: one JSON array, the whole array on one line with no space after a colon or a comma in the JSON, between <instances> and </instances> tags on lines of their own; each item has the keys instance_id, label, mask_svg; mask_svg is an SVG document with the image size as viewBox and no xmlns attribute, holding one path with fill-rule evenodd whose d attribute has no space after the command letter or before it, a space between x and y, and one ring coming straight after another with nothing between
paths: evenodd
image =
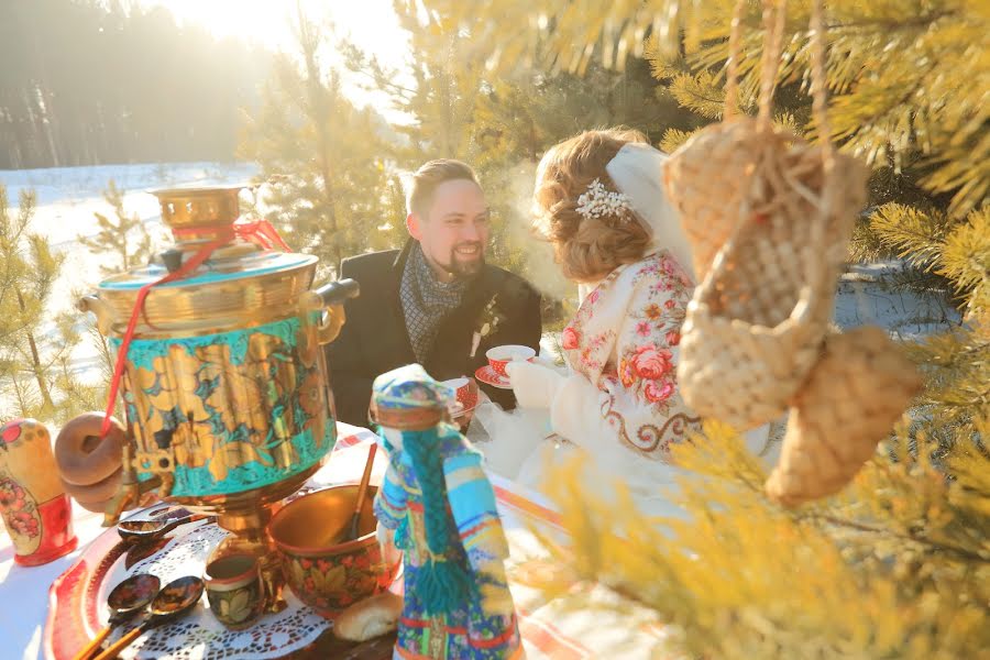
<instances>
[{"instance_id":1,"label":"grey patterned scarf around the bearded man's neck","mask_svg":"<svg viewBox=\"0 0 990 660\"><path fill-rule=\"evenodd\" d=\"M413 343L416 360L422 364L437 338L440 322L461 305L468 279L455 279L449 284L437 279L422 254L419 242L413 244L403 280L399 297L406 317L406 330Z\"/></svg>"}]
</instances>

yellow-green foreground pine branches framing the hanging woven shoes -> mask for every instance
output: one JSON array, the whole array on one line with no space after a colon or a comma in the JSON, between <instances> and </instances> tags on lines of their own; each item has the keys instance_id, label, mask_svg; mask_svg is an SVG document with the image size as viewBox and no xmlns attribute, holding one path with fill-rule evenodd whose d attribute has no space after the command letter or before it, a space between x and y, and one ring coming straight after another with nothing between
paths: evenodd
<instances>
[{"instance_id":1,"label":"yellow-green foreground pine branches framing the hanging woven shoes","mask_svg":"<svg viewBox=\"0 0 990 660\"><path fill-rule=\"evenodd\" d=\"M480 58L493 63L497 45L497 70L529 56L580 74L593 56L620 66L652 43L669 94L706 120L721 116L735 2L425 4L438 25L469 35ZM759 4L745 9L739 98L751 111L762 29ZM810 2L788 3L778 101L806 86L809 12ZM541 26L542 41L518 25ZM715 422L675 448L688 472L672 497L685 520L645 519L620 487L617 503L594 501L571 465L556 499L573 541L546 539L558 579L544 586L584 607L575 582L608 585L625 596L630 625L673 624L671 644L694 657L986 657L988 35L978 0L827 7L831 138L878 168L873 199L884 202L860 228L858 249L942 278L965 315L961 327L905 346L926 377L905 420L845 492L795 510L768 502L762 466ZM815 136L806 102L782 107L790 112L778 122ZM668 132L662 145L686 138Z\"/></svg>"}]
</instances>

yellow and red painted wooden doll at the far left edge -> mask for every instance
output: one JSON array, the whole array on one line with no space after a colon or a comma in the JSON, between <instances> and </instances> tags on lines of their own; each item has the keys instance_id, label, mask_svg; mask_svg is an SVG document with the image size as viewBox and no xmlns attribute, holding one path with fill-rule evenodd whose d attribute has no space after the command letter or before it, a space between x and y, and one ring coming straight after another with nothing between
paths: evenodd
<instances>
[{"instance_id":1,"label":"yellow and red painted wooden doll at the far left edge","mask_svg":"<svg viewBox=\"0 0 990 660\"><path fill-rule=\"evenodd\" d=\"M48 563L76 549L73 509L48 429L35 419L0 426L0 517L24 566Z\"/></svg>"}]
</instances>

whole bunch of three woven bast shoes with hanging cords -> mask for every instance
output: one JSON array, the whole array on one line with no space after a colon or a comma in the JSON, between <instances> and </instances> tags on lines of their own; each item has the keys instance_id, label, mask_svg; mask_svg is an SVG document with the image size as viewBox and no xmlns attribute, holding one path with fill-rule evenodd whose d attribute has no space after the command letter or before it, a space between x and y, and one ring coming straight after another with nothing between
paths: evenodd
<instances>
[{"instance_id":1,"label":"whole bunch of three woven bast shoes with hanging cords","mask_svg":"<svg viewBox=\"0 0 990 660\"><path fill-rule=\"evenodd\" d=\"M763 2L759 113L737 118L739 25L729 38L725 120L701 131L670 158L666 184L692 241L701 278L688 308L678 381L704 417L740 430L789 409L781 463L768 483L778 502L796 504L838 491L872 454L916 391L917 376L876 329L826 341L836 282L868 170L836 154L827 136L822 0L812 12L812 96L820 144L771 122L785 2ZM842 366L842 361L853 360ZM854 367L855 364L855 367ZM849 370L849 371L842 371ZM888 387L890 396L834 387ZM826 376L827 374L827 376Z\"/></svg>"}]
</instances>

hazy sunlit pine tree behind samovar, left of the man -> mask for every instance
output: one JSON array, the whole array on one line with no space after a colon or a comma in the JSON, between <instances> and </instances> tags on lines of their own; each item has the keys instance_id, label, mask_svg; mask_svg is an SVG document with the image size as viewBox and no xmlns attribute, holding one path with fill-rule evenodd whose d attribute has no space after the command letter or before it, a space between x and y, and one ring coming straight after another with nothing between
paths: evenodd
<instances>
[{"instance_id":1,"label":"hazy sunlit pine tree behind samovar, left of the man","mask_svg":"<svg viewBox=\"0 0 990 660\"><path fill-rule=\"evenodd\" d=\"M386 131L380 116L341 92L339 73L320 59L321 32L301 8L296 37L301 67L285 55L276 62L240 154L272 183L263 201L289 245L336 274L345 256L393 246L380 229L391 220Z\"/></svg>"}]
</instances>

